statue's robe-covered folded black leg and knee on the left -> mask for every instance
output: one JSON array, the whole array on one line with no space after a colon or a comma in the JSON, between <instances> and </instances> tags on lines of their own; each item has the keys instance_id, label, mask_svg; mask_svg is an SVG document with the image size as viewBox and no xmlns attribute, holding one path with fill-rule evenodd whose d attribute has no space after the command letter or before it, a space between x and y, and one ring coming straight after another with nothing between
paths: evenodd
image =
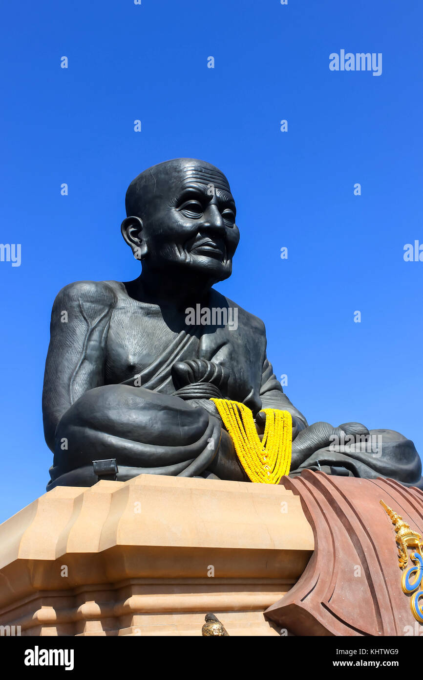
<instances>
[{"instance_id":1,"label":"statue's robe-covered folded black leg and knee on the left","mask_svg":"<svg viewBox=\"0 0 423 680\"><path fill-rule=\"evenodd\" d=\"M95 483L92 451L98 460L115 458L122 481L142 473L200 475L220 439L220 421L178 396L127 385L94 388L60 419L48 490Z\"/></svg>"}]
</instances>

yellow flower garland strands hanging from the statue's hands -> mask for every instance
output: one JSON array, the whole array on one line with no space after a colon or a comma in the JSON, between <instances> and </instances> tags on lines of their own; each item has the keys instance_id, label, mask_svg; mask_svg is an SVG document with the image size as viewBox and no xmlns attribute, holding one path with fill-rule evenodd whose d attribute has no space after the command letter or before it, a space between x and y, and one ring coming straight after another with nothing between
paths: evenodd
<instances>
[{"instance_id":1,"label":"yellow flower garland strands hanging from the statue's hands","mask_svg":"<svg viewBox=\"0 0 423 680\"><path fill-rule=\"evenodd\" d=\"M236 455L249 479L278 484L291 467L292 418L289 411L263 409L266 414L263 441L255 428L253 413L238 401L212 400L234 442Z\"/></svg>"}]
</instances>

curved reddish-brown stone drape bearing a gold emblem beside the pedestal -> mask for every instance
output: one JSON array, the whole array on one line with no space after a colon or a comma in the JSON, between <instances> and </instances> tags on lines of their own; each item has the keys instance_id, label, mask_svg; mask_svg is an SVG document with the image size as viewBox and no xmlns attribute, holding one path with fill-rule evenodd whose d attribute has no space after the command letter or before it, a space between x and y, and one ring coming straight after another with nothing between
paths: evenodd
<instances>
[{"instance_id":1,"label":"curved reddish-brown stone drape bearing a gold emblem beside the pedestal","mask_svg":"<svg viewBox=\"0 0 423 680\"><path fill-rule=\"evenodd\" d=\"M404 635L416 619L401 590L394 527L380 500L423 534L423 493L391 479L304 471L282 484L301 498L315 550L293 588L266 610L297 635Z\"/></svg>"}]
</instances>

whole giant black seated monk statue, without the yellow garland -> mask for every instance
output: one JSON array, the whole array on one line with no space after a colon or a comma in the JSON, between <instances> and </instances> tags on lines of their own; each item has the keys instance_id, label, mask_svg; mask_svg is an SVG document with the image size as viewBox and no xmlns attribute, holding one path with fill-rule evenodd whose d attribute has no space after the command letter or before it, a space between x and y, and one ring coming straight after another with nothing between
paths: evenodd
<instances>
[{"instance_id":1,"label":"whole giant black seated monk statue, without the yellow garland","mask_svg":"<svg viewBox=\"0 0 423 680\"><path fill-rule=\"evenodd\" d=\"M308 426L273 373L263 322L213 288L231 275L240 237L221 171L193 158L155 165L131 182L126 214L122 235L141 275L69 284L54 302L43 389L48 490L91 486L92 461L103 459L116 460L122 481L249 481L212 397L248 406L259 434L261 409L289 411L293 475L321 469L422 488L420 458L399 432Z\"/></svg>"}]
</instances>

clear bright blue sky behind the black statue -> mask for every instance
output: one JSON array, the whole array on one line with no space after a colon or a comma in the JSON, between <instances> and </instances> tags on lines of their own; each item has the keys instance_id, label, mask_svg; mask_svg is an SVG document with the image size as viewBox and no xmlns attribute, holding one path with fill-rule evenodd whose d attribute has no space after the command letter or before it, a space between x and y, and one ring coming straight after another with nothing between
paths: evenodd
<instances>
[{"instance_id":1,"label":"clear bright blue sky behind the black statue","mask_svg":"<svg viewBox=\"0 0 423 680\"><path fill-rule=\"evenodd\" d=\"M227 174L241 241L218 288L264 320L291 401L310 423L392 428L422 453L423 262L403 260L423 243L422 4L22 0L2 15L0 240L22 263L0 262L0 520L48 481L54 296L138 275L126 187L178 156ZM341 49L382 52L382 75L330 71Z\"/></svg>"}]
</instances>

